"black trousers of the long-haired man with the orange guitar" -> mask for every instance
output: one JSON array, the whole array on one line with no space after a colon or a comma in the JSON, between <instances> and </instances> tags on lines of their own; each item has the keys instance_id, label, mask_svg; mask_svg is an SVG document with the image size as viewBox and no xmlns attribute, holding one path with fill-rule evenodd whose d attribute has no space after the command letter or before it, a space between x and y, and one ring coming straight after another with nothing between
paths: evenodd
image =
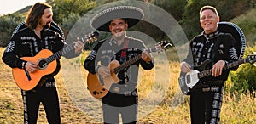
<instances>
[{"instance_id":1,"label":"black trousers of the long-haired man with the orange guitar","mask_svg":"<svg viewBox=\"0 0 256 124\"><path fill-rule=\"evenodd\" d=\"M42 102L49 124L60 124L61 113L56 87L38 87L36 90L23 91L24 123L36 124L38 109Z\"/></svg>"}]
</instances>

